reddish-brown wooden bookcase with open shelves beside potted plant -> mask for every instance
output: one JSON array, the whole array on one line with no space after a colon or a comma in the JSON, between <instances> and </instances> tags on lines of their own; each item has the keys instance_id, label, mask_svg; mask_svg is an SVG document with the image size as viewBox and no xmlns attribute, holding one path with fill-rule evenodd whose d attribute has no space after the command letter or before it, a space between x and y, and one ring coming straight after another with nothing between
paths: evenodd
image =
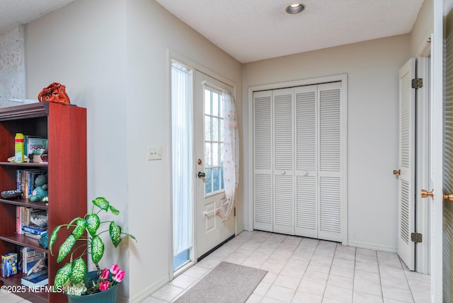
<instances>
[{"instance_id":1,"label":"reddish-brown wooden bookcase with open shelves beside potted plant","mask_svg":"<svg viewBox=\"0 0 453 303\"><path fill-rule=\"evenodd\" d=\"M48 139L48 163L10 163L14 154L17 132L38 135ZM28 199L0 199L0 255L28 246L46 251L48 255L49 285L57 272L57 254L61 236L54 246L54 256L35 239L16 234L16 207L26 206L48 212L48 230L69 223L86 213L86 108L56 103L33 103L0 108L0 191L16 189L18 169L40 168L47 171L49 202L31 202ZM68 257L69 258L69 257ZM21 285L22 273L0 278L1 285ZM11 287L13 288L13 287ZM66 295L55 292L25 292L20 295L32 302L67 302Z\"/></svg>"}]
</instances>

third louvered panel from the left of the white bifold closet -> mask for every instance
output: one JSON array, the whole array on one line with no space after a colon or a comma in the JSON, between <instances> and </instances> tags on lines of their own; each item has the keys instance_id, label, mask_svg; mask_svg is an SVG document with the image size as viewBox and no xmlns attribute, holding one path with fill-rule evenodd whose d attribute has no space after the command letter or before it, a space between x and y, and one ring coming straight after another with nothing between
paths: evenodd
<instances>
[{"instance_id":1,"label":"third louvered panel from the left of the white bifold closet","mask_svg":"<svg viewBox=\"0 0 453 303\"><path fill-rule=\"evenodd\" d=\"M294 88L295 234L318 237L317 87Z\"/></svg>"}]
</instances>

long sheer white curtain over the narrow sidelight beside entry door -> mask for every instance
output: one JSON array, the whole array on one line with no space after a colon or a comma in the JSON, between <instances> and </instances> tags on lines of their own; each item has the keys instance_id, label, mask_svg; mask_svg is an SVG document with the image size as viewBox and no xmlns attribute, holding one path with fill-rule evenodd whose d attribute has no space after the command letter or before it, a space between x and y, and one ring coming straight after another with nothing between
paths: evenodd
<instances>
[{"instance_id":1,"label":"long sheer white curtain over the narrow sidelight beside entry door","mask_svg":"<svg viewBox=\"0 0 453 303\"><path fill-rule=\"evenodd\" d=\"M192 104L190 71L171 64L171 126L173 164L173 256L192 243Z\"/></svg>"}]
</instances>

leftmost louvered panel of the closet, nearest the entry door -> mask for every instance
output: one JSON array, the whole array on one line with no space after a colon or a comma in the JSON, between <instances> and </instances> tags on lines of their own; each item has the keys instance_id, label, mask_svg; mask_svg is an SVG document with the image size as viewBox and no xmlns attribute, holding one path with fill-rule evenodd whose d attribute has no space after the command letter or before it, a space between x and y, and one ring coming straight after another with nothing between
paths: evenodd
<instances>
[{"instance_id":1,"label":"leftmost louvered panel of the closet, nearest the entry door","mask_svg":"<svg viewBox=\"0 0 453 303\"><path fill-rule=\"evenodd\" d=\"M273 231L272 91L253 93L255 229Z\"/></svg>"}]
</instances>

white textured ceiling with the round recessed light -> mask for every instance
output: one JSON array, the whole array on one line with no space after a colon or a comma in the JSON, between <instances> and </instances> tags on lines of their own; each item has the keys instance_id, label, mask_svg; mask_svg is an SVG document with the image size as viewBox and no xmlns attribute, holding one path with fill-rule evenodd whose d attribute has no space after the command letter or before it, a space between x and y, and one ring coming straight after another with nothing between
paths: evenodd
<instances>
[{"instance_id":1,"label":"white textured ceiling with the round recessed light","mask_svg":"<svg viewBox=\"0 0 453 303\"><path fill-rule=\"evenodd\" d=\"M156 0L240 62L409 33L423 0Z\"/></svg>"}]
</instances>

